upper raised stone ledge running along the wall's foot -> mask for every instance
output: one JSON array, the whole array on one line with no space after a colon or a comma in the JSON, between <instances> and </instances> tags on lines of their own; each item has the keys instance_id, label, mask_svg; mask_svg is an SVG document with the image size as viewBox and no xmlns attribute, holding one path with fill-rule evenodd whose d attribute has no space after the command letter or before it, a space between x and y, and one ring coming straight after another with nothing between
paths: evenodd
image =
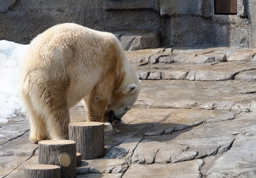
<instances>
[{"instance_id":1,"label":"upper raised stone ledge running along the wall's foot","mask_svg":"<svg viewBox=\"0 0 256 178\"><path fill-rule=\"evenodd\" d=\"M210 63L227 61L256 62L256 49L234 47L181 47L125 51L130 63Z\"/></svg>"}]
</instances>

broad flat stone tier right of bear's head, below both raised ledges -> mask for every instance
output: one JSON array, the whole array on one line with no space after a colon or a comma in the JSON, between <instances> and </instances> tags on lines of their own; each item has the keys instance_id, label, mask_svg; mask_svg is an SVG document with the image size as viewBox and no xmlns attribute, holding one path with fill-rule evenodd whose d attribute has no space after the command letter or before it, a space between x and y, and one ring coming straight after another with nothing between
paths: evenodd
<instances>
[{"instance_id":1,"label":"broad flat stone tier right of bear's head, below both raised ledges","mask_svg":"<svg viewBox=\"0 0 256 178\"><path fill-rule=\"evenodd\" d=\"M256 82L143 80L134 107L256 111Z\"/></svg>"}]
</instances>

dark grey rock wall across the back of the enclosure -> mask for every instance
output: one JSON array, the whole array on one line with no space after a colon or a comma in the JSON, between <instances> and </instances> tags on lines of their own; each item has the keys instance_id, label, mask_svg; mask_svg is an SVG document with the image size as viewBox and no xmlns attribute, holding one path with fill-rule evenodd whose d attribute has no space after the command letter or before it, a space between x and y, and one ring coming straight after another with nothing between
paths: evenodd
<instances>
[{"instance_id":1,"label":"dark grey rock wall across the back of the enclosure","mask_svg":"<svg viewBox=\"0 0 256 178\"><path fill-rule=\"evenodd\" d=\"M256 48L256 2L215 15L214 0L0 0L0 39L29 43L52 25L74 22L101 31L151 29L169 45Z\"/></svg>"}]
</instances>

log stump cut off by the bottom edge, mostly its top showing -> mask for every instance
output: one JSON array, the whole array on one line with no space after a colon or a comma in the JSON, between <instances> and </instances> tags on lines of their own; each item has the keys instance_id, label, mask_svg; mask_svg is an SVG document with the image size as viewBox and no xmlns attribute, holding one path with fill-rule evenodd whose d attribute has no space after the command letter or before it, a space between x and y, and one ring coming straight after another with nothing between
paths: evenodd
<instances>
[{"instance_id":1,"label":"log stump cut off by the bottom edge, mostly its top showing","mask_svg":"<svg viewBox=\"0 0 256 178\"><path fill-rule=\"evenodd\" d=\"M24 178L61 178L61 167L49 164L26 165Z\"/></svg>"}]
</instances>

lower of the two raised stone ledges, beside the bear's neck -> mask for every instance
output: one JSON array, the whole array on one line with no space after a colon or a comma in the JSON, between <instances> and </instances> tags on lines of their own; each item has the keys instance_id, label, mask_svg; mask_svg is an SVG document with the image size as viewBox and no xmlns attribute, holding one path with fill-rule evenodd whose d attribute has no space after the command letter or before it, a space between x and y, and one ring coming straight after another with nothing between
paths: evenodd
<instances>
[{"instance_id":1,"label":"lower of the two raised stone ledges, beside the bear's neck","mask_svg":"<svg viewBox=\"0 0 256 178\"><path fill-rule=\"evenodd\" d=\"M181 79L200 81L256 80L256 62L219 62L203 64L147 64L133 63L139 79Z\"/></svg>"}]
</instances>

